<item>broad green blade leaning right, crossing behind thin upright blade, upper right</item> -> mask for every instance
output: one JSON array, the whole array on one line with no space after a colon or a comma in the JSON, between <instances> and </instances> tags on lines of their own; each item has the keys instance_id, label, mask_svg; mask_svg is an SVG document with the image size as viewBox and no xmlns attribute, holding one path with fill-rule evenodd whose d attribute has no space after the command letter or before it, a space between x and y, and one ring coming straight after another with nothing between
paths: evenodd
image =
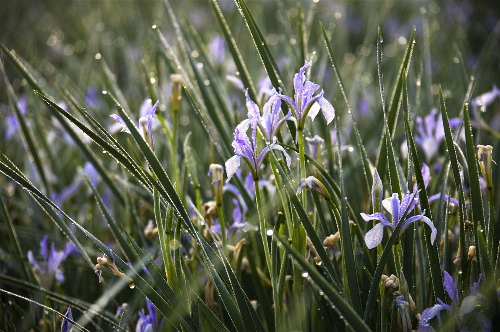
<instances>
[{"instance_id":1,"label":"broad green blade leaning right, crossing behind thin upright blade, upper right","mask_svg":"<svg viewBox=\"0 0 500 332\"><path fill-rule=\"evenodd\" d=\"M403 60L401 62L401 66L399 67L399 72L397 74L397 80L395 86L392 90L392 95L389 102L389 108L387 113L387 126L391 132L391 138L394 136L395 126L397 123L397 117L399 113L400 100L401 100L401 90L402 90L402 80L403 80L403 70L405 69L408 72L411 56L413 55L413 47L415 45L415 31L416 28L413 27L413 32L411 33L411 37L408 40L408 47L406 48L406 52L404 53ZM378 152L376 169L381 178L385 177L385 172L387 170L387 146L386 146L386 138L385 131L382 133L380 137L380 149Z\"/></svg>"}]
</instances>

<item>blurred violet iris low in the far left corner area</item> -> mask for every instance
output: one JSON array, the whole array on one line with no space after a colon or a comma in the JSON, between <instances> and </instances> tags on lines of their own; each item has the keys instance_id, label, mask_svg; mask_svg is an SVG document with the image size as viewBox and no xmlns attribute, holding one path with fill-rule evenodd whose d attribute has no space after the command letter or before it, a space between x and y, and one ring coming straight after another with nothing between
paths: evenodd
<instances>
[{"instance_id":1,"label":"blurred violet iris low in the far left corner area","mask_svg":"<svg viewBox=\"0 0 500 332\"><path fill-rule=\"evenodd\" d=\"M28 260L33 265L32 271L36 281L40 286L50 289L54 276L57 282L64 282L64 274L62 274L62 269L59 266L73 251L74 246L69 242L66 244L64 251L55 251L55 244L52 242L50 255L48 255L47 239L48 236L45 235L40 242L40 254L43 257L43 261L40 263L36 260L31 250L28 251Z\"/></svg>"}]
</instances>

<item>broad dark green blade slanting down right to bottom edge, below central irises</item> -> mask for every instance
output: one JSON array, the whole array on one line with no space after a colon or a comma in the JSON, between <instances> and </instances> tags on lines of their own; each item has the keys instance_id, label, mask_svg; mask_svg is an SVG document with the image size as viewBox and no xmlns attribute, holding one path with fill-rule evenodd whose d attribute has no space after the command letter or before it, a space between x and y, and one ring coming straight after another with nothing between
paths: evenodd
<instances>
[{"instance_id":1,"label":"broad dark green blade slanting down right to bottom edge, below central irises","mask_svg":"<svg viewBox=\"0 0 500 332\"><path fill-rule=\"evenodd\" d=\"M300 203L299 203L300 205ZM285 247L286 251L293 256L293 259L307 272L307 276L311 278L315 286L324 292L324 296L328 302L335 307L349 325L355 331L370 331L370 328L356 313L356 311L347 303L343 296L319 273L316 266L308 263L305 257L291 247L287 241L274 234L276 240ZM380 274L381 276L381 274Z\"/></svg>"}]
</instances>

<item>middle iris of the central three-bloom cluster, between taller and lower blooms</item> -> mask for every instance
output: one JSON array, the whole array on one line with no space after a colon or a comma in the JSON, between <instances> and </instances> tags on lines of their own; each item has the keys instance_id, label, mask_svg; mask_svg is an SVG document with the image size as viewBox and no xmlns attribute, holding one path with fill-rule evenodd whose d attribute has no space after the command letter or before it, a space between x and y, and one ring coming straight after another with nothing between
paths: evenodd
<instances>
[{"instance_id":1,"label":"middle iris of the central three-bloom cluster, between taller and lower blooms","mask_svg":"<svg viewBox=\"0 0 500 332\"><path fill-rule=\"evenodd\" d=\"M279 128L285 121L293 121L295 124L297 120L291 116L291 111L288 114L279 119L281 114L281 99L276 96L272 96L264 104L263 115L260 116L260 108L256 103L254 103L250 96L248 95L248 89L246 89L246 108L248 108L248 118L250 120L255 120L257 122L260 131L265 137L265 140L270 142L274 136L276 136Z\"/></svg>"}]
</instances>

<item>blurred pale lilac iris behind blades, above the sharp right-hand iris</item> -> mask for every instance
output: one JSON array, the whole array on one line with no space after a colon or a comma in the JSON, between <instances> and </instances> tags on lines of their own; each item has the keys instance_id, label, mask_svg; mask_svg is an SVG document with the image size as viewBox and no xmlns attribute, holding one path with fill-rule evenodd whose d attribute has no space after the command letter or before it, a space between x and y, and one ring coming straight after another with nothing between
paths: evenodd
<instances>
[{"instance_id":1,"label":"blurred pale lilac iris behind blades, above the sharp right-hand iris","mask_svg":"<svg viewBox=\"0 0 500 332\"><path fill-rule=\"evenodd\" d=\"M422 119L422 117L418 116L416 123L418 132L415 135L415 142L423 148L427 161L430 161L439 151L439 145L445 137L442 117L438 115L437 109L434 108L425 118ZM457 117L449 119L451 129L456 128L460 123L461 119ZM459 138L464 139L463 130L460 132Z\"/></svg>"}]
</instances>

